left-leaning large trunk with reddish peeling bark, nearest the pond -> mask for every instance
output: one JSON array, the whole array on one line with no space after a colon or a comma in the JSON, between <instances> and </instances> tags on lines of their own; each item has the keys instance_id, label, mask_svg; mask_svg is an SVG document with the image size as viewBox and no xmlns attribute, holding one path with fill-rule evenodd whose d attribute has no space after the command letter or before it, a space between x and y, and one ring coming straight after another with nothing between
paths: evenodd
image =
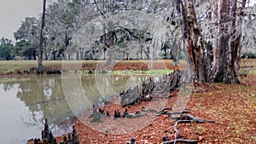
<instances>
[{"instance_id":1,"label":"left-leaning large trunk with reddish peeling bark, nearest the pond","mask_svg":"<svg viewBox=\"0 0 256 144\"><path fill-rule=\"evenodd\" d=\"M195 16L195 6L193 0L184 0L181 3L177 0L177 11L181 14L181 26L183 31L183 41L185 47L189 53L188 71L189 67L193 67L192 75L189 75L189 79L194 79L199 83L207 81L206 64L203 43L201 39L201 32L197 19Z\"/></svg>"}]
</instances>

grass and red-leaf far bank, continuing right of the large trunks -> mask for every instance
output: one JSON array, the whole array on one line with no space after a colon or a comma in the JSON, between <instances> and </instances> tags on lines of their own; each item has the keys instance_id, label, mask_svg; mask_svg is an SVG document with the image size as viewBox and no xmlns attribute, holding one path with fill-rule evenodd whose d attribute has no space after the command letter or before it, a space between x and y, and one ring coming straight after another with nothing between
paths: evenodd
<instances>
[{"instance_id":1,"label":"grass and red-leaf far bank, continuing right of the large trunks","mask_svg":"<svg viewBox=\"0 0 256 144\"><path fill-rule=\"evenodd\" d=\"M61 69L63 67L68 67L73 70L82 69L82 66L100 66L104 65L106 60L44 60L44 66L53 67L56 69ZM116 67L119 70L132 69L135 65L144 65L148 67L151 60L116 60ZM0 74L5 74L8 72L14 72L15 70L27 70L31 67L37 66L37 60L0 60ZM130 67L129 67L130 66ZM185 60L180 60L180 67L185 68ZM248 71L249 74L256 74L256 59L243 60L241 61L241 66L254 66L244 69ZM172 60L153 60L153 66L150 68L149 73L152 70L173 70ZM113 72L119 73L130 73L130 72ZM141 72L144 74L143 72ZM157 72L156 72L157 73Z\"/></svg>"}]
</instances>

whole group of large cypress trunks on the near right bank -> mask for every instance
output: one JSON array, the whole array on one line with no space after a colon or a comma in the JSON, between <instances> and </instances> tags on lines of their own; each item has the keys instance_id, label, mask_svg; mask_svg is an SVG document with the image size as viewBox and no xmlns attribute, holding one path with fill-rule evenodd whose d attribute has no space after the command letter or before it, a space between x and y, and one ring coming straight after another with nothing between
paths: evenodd
<instances>
[{"instance_id":1,"label":"whole group of large cypress trunks on the near right bank","mask_svg":"<svg viewBox=\"0 0 256 144\"><path fill-rule=\"evenodd\" d=\"M237 19L237 3L237 0L218 1L218 14L214 13L218 15L217 28L210 30L218 36L215 37L217 40L214 42L207 41L207 60L205 60L194 1L177 0L177 13L180 14L183 43L188 57L188 82L240 83L237 72L241 53L241 15L246 0L241 3L239 19ZM212 43L215 49L212 48Z\"/></svg>"}]
</instances>

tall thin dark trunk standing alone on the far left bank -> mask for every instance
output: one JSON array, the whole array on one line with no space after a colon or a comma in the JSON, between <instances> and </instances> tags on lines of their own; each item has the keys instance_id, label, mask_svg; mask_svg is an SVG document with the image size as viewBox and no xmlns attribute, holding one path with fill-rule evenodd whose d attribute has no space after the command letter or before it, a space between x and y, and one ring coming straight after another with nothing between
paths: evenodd
<instances>
[{"instance_id":1,"label":"tall thin dark trunk standing alone on the far left bank","mask_svg":"<svg viewBox=\"0 0 256 144\"><path fill-rule=\"evenodd\" d=\"M44 24L45 24L45 7L46 7L46 0L44 0L43 4L43 14L42 14L42 24L40 30L40 41L39 41L39 49L38 49L38 72L42 72L44 70L43 66L43 43L44 43Z\"/></svg>"}]
</instances>

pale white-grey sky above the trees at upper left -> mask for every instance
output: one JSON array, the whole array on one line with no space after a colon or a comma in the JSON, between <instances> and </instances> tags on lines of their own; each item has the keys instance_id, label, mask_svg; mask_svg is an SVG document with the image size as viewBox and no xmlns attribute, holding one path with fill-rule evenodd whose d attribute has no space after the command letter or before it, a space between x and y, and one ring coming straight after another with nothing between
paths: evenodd
<instances>
[{"instance_id":1,"label":"pale white-grey sky above the trees at upper left","mask_svg":"<svg viewBox=\"0 0 256 144\"><path fill-rule=\"evenodd\" d=\"M47 0L48 3L53 0ZM250 0L250 5L256 0ZM0 38L14 39L14 32L26 17L38 17L43 0L0 0Z\"/></svg>"}]
</instances>

